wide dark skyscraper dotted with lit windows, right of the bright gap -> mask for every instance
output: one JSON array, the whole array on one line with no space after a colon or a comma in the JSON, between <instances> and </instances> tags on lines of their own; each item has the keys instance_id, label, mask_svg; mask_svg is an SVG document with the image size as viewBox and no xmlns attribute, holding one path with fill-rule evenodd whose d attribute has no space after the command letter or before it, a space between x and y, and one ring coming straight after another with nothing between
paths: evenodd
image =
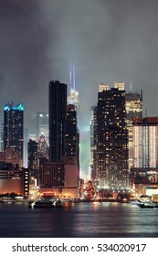
<instances>
[{"instance_id":1,"label":"wide dark skyscraper dotted with lit windows, right of the bright gap","mask_svg":"<svg viewBox=\"0 0 158 256\"><path fill-rule=\"evenodd\" d=\"M97 162L100 187L129 185L125 91L118 88L98 93Z\"/></svg>"}]
</instances>

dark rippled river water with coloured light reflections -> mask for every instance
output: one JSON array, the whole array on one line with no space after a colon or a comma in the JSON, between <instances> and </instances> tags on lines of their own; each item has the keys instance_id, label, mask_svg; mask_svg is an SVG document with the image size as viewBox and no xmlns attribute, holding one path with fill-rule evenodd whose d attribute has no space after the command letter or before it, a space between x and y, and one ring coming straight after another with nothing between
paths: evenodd
<instances>
[{"instance_id":1,"label":"dark rippled river water with coloured light reflections","mask_svg":"<svg viewBox=\"0 0 158 256\"><path fill-rule=\"evenodd\" d=\"M111 202L52 209L0 204L0 237L158 238L158 209Z\"/></svg>"}]
</instances>

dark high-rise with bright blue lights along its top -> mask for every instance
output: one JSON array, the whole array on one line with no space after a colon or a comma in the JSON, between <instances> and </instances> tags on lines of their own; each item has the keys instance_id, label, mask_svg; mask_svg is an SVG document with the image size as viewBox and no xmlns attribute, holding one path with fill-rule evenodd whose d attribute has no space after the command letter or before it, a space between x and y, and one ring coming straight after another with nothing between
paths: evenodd
<instances>
[{"instance_id":1,"label":"dark high-rise with bright blue lights along its top","mask_svg":"<svg viewBox=\"0 0 158 256\"><path fill-rule=\"evenodd\" d=\"M18 155L18 164L23 166L24 104L4 106L4 151L11 149ZM11 159L12 161L12 159Z\"/></svg>"}]
</instances>

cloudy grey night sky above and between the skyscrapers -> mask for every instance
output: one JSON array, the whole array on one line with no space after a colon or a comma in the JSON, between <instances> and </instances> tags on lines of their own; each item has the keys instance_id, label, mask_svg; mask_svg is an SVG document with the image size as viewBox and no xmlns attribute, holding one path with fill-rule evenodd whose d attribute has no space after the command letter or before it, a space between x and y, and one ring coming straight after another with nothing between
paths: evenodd
<instances>
[{"instance_id":1,"label":"cloudy grey night sky above and between the skyscrapers","mask_svg":"<svg viewBox=\"0 0 158 256\"><path fill-rule=\"evenodd\" d=\"M48 82L68 83L76 63L82 174L88 173L90 106L99 82L143 91L143 109L158 116L157 0L1 0L0 116L24 102L25 127L47 112ZM84 155L84 157L83 157Z\"/></svg>"}]
</instances>

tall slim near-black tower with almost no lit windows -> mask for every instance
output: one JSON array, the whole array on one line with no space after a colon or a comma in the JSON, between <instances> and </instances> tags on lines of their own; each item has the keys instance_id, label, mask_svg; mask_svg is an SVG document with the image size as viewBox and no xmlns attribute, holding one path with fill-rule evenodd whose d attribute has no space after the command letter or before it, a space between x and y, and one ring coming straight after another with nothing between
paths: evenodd
<instances>
[{"instance_id":1,"label":"tall slim near-black tower with almost no lit windows","mask_svg":"<svg viewBox=\"0 0 158 256\"><path fill-rule=\"evenodd\" d=\"M49 82L49 161L61 162L65 154L67 85Z\"/></svg>"}]
</instances>

